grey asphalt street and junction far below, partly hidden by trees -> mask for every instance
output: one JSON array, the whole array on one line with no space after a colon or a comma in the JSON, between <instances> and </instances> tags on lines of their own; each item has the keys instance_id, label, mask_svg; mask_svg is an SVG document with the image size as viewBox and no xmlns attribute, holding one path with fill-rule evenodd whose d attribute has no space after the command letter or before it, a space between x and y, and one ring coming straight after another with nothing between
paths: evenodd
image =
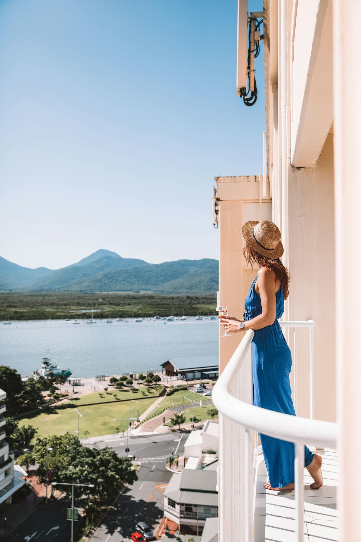
<instances>
[{"instance_id":1,"label":"grey asphalt street and junction far below, partly hidden by trees","mask_svg":"<svg viewBox=\"0 0 361 542\"><path fill-rule=\"evenodd\" d=\"M183 454L187 434L172 431L162 435L129 437L130 454L140 461L138 480L126 487L114 506L96 529L92 540L120 542L134 530L137 521L146 521L155 528L163 517L163 492L172 476L166 469L166 458L175 453ZM181 440L179 440L181 439ZM106 442L88 444L89 447L114 448L121 457L126 455L127 437L111 438ZM40 505L8 537L6 542L69 542L70 521L66 519L69 501L55 502L47 507Z\"/></svg>"}]
</instances>

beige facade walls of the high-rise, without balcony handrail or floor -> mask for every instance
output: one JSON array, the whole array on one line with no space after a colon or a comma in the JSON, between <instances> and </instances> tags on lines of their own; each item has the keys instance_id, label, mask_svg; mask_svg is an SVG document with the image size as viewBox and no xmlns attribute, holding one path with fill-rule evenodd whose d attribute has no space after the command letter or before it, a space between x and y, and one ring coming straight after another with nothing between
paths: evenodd
<instances>
[{"instance_id":1,"label":"beige facade walls of the high-rise, without balcony handrail or floor","mask_svg":"<svg viewBox=\"0 0 361 542\"><path fill-rule=\"evenodd\" d=\"M246 0L239 0L239 20L245 10ZM291 373L291 388L294 399L297 390L297 416L337 422L338 539L345 542L361 540L361 498L356 484L349 483L361 440L356 323L361 300L361 113L356 94L361 67L357 33L346 28L347 17L352 14L357 20L360 11L361 3L351 0L264 0L265 179L241 175L215 178L220 304L227 305L229 314L242 315L254 275L244 269L241 226L247 220L268 218L281 230L285 248L282 260L291 274L283 320L315 322L312 352L308 328L297 330L296 344L292 328L284 328L293 357L297 355L297 373ZM239 36L238 43L243 42ZM241 339L242 334L229 339L220 336L220 372ZM246 367L244 370L249 378L250 371ZM251 401L249 390L243 399ZM232 522L238 506L244 509L244 494L239 496L233 512L226 512L229 507L224 505L231 446L229 441L227 444L227 431L233 431L234 423L221 417L221 542L231 534L227 521ZM243 438L240 434L239 444L244 444ZM240 452L240 461L245 453ZM244 482L241 473L239 479ZM242 522L239 525L243 531ZM243 531L240 540L251 538L248 531Z\"/></svg>"}]
</instances>

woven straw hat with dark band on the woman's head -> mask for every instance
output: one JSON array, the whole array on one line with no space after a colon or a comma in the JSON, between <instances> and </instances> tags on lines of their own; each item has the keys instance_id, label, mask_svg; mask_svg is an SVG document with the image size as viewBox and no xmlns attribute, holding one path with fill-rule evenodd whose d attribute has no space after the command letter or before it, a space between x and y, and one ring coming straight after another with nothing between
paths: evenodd
<instances>
[{"instance_id":1,"label":"woven straw hat with dark band on the woman's head","mask_svg":"<svg viewBox=\"0 0 361 542\"><path fill-rule=\"evenodd\" d=\"M242 225L242 235L256 252L276 260L283 255L281 232L270 220L250 220Z\"/></svg>"}]
</instances>

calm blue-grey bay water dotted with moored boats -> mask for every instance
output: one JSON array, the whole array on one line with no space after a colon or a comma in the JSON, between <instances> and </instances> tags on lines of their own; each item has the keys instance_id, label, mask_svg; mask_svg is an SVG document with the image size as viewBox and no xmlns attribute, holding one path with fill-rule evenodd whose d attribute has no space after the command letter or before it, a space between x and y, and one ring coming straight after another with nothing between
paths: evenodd
<instances>
[{"instance_id":1,"label":"calm blue-grey bay water dotted with moored boats","mask_svg":"<svg viewBox=\"0 0 361 542\"><path fill-rule=\"evenodd\" d=\"M215 355L218 321L161 321L79 325L64 320L0 322L0 364L22 376L40 369L47 349L61 369L91 377L122 372L159 370L167 359Z\"/></svg>"}]
</instances>

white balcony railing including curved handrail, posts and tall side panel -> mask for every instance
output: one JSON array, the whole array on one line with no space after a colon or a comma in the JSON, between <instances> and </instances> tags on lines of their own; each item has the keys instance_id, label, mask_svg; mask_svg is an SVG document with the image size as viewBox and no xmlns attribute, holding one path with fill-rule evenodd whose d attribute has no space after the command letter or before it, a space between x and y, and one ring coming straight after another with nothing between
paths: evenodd
<instances>
[{"instance_id":1,"label":"white balcony railing including curved handrail, posts and tall side panel","mask_svg":"<svg viewBox=\"0 0 361 542\"><path fill-rule=\"evenodd\" d=\"M310 418L313 417L313 320L280 321L294 329L293 367L297 371L297 328L310 328ZM248 330L221 373L212 392L220 412L220 542L230 540L232 531L245 533L245 542L254 542L255 457L260 451L257 433L293 442L295 475L295 540L303 541L304 445L336 448L336 423L295 417L253 406L251 343L254 331ZM297 400L295 377L294 393ZM231 485L233 487L231 487ZM237 489L234 489L237 488ZM232 497L228 499L228 494ZM228 499L228 500L227 500Z\"/></svg>"}]
</instances>

